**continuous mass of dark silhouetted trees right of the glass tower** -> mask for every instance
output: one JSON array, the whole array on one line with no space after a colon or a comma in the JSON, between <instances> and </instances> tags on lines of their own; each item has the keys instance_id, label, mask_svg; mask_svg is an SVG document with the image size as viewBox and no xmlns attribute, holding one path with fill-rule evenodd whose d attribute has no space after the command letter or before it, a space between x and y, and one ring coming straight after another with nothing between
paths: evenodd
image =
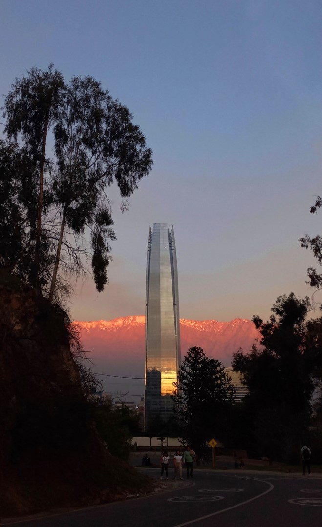
<instances>
[{"instance_id":1,"label":"continuous mass of dark silhouetted trees right of the glass tower","mask_svg":"<svg viewBox=\"0 0 322 527\"><path fill-rule=\"evenodd\" d=\"M231 452L297 467L306 443L312 462L322 463L322 318L310 319L311 309L308 297L291 293L276 300L266 323L253 317L259 341L232 360L248 388L241 403L223 366L201 348L188 350L174 383L174 421L198 457L215 438Z\"/></svg>"}]
</instances>

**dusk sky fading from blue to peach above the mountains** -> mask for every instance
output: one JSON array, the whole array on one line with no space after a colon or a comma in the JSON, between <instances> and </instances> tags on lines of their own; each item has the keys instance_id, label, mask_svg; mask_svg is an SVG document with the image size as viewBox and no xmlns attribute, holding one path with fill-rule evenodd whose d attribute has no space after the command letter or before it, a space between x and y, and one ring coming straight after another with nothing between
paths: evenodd
<instances>
[{"instance_id":1,"label":"dusk sky fading from blue to peach above the mountains","mask_svg":"<svg viewBox=\"0 0 322 527\"><path fill-rule=\"evenodd\" d=\"M321 22L318 0L0 2L1 95L34 65L92 75L154 152L129 211L110 189L110 283L79 280L73 319L144 314L155 222L174 226L181 318L267 319L312 295L298 240L322 221Z\"/></svg>"}]
</instances>

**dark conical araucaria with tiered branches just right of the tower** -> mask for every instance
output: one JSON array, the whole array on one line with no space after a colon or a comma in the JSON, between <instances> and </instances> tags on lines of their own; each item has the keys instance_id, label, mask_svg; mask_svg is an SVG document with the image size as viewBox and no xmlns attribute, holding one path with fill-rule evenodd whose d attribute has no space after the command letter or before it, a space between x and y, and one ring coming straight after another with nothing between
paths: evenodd
<instances>
[{"instance_id":1,"label":"dark conical araucaria with tiered branches just right of the tower","mask_svg":"<svg viewBox=\"0 0 322 527\"><path fill-rule=\"evenodd\" d=\"M201 456L212 437L225 435L234 387L219 360L206 357L199 347L188 349L174 386L174 414L182 437Z\"/></svg>"}]
</instances>

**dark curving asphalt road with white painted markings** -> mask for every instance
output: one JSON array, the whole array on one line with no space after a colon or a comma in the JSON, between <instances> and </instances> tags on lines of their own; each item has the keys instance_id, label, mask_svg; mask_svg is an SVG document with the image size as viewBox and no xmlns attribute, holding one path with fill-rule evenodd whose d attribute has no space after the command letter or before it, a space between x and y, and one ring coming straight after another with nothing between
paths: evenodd
<instances>
[{"instance_id":1,"label":"dark curving asphalt road with white painted markings","mask_svg":"<svg viewBox=\"0 0 322 527\"><path fill-rule=\"evenodd\" d=\"M145 469L158 477L156 469ZM169 474L172 476L172 471ZM320 527L322 478L196 470L166 492L46 518L24 527Z\"/></svg>"}]
</instances>

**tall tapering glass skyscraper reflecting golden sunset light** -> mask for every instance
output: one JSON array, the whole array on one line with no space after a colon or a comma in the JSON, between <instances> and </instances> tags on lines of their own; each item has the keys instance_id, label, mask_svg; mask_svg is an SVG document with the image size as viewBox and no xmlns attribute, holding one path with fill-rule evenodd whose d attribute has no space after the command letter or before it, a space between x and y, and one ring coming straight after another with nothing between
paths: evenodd
<instances>
[{"instance_id":1,"label":"tall tapering glass skyscraper reflecting golden sunset light","mask_svg":"<svg viewBox=\"0 0 322 527\"><path fill-rule=\"evenodd\" d=\"M146 271L145 424L167 419L180 361L178 271L173 226L149 228Z\"/></svg>"}]
</instances>

